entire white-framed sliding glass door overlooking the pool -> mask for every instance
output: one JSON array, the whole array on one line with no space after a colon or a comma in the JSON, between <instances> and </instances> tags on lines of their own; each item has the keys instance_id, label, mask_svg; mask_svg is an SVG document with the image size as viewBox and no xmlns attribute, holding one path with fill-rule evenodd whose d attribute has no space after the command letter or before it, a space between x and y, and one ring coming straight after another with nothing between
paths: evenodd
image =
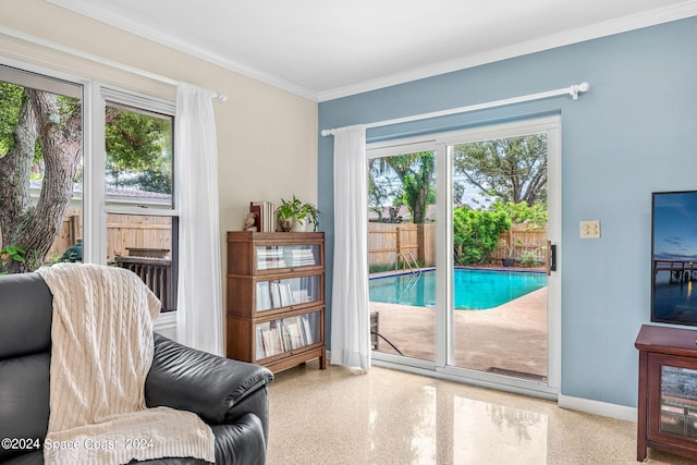
<instances>
[{"instance_id":1,"label":"entire white-framed sliding glass door overlooking the pool","mask_svg":"<svg viewBox=\"0 0 697 465\"><path fill-rule=\"evenodd\" d=\"M555 394L559 118L368 148L376 363Z\"/></svg>"}]
</instances>

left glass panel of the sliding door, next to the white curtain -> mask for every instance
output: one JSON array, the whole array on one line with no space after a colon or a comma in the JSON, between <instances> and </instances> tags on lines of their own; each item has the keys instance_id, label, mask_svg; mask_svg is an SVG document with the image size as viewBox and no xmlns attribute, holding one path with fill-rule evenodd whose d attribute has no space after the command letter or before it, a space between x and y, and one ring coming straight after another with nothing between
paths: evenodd
<instances>
[{"instance_id":1,"label":"left glass panel of the sliding door, next to the white curtain","mask_svg":"<svg viewBox=\"0 0 697 465\"><path fill-rule=\"evenodd\" d=\"M388 150L369 163L372 348L436 360L436 152Z\"/></svg>"}]
</instances>

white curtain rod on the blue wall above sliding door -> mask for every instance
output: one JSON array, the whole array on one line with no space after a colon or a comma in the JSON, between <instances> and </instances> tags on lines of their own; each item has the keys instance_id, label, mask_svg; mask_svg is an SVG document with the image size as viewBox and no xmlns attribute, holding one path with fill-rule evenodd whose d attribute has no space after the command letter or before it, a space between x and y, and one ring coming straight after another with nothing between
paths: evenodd
<instances>
[{"instance_id":1,"label":"white curtain rod on the blue wall above sliding door","mask_svg":"<svg viewBox=\"0 0 697 465\"><path fill-rule=\"evenodd\" d=\"M485 110L487 108L504 107L506 105L522 103L522 102L525 102L525 101L541 100L541 99L545 99L545 98L555 97L555 96L565 95L565 94L571 95L574 100L577 100L578 99L578 95L580 93L588 91L589 88L590 88L590 84L588 84L586 82L583 82L580 84L568 86L568 87L564 87L564 88L561 88L561 89L557 89L557 90L548 90L548 91L543 91L543 93L528 94L528 95L524 95L524 96L519 96L519 97L504 98L502 100L492 100L492 101L487 101L487 102L484 102L484 103L469 105L469 106L466 106L466 107L451 108L450 110L441 110L441 111L433 111L433 112L430 112L430 113L414 114L412 117L395 118L393 120L376 121L375 123L363 124L363 126L366 130L370 129L370 127L390 126L390 125L393 125L393 124L409 123L412 121L428 120L428 119L431 119L431 118L449 117L451 114L467 113L467 112L476 111L476 110ZM333 136L335 134L335 132L337 132L335 129L334 130L322 130L321 135L325 136L325 137L326 136Z\"/></svg>"}]
</instances>

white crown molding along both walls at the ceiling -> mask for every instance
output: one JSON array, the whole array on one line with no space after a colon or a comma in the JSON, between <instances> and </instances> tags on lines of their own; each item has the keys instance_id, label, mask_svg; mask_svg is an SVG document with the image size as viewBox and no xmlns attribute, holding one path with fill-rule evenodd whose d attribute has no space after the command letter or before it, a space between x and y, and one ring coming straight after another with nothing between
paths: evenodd
<instances>
[{"instance_id":1,"label":"white crown molding along both walls at the ceiling","mask_svg":"<svg viewBox=\"0 0 697 465\"><path fill-rule=\"evenodd\" d=\"M254 69L244 63L231 60L220 53L212 52L204 47L182 40L175 36L163 34L149 28L140 23L124 19L123 16L106 14L95 8L89 0L46 0L49 3L62 7L113 27L126 30L137 36L152 40L166 47L173 48L201 60L208 61L221 68L234 71L256 81L269 84L273 87L295 94L313 101L328 101L337 98L348 97L355 94L376 90L383 87L404 84L407 82L431 77L453 71L474 68L524 54L549 50L566 45L577 44L628 30L649 27L657 24L682 20L697 15L697 0L688 0L664 8L650 10L643 13L623 16L616 20L606 21L587 27L570 29L560 34L549 35L509 47L502 47L486 52L461 57L452 60L433 63L427 66L416 68L402 73L386 75L376 79L356 83L350 86L329 90L314 90L297 83L284 79L280 76Z\"/></svg>"}]
</instances>

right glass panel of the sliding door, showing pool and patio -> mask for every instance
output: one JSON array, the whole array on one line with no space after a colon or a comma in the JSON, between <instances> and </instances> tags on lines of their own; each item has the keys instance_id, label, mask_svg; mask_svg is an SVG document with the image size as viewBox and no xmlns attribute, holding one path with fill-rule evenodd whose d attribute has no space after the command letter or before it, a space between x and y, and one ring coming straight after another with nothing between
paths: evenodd
<instances>
[{"instance_id":1,"label":"right glass panel of the sliding door, showing pool and patio","mask_svg":"<svg viewBox=\"0 0 697 465\"><path fill-rule=\"evenodd\" d=\"M452 365L546 383L547 133L449 145Z\"/></svg>"}]
</instances>

